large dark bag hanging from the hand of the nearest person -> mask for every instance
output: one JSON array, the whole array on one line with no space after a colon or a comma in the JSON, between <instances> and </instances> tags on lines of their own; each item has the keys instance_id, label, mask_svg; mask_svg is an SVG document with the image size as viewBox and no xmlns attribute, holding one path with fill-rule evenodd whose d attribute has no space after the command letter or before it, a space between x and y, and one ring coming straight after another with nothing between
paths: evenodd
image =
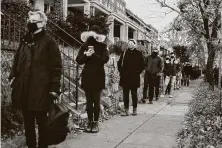
<instances>
[{"instance_id":1,"label":"large dark bag hanging from the hand of the nearest person","mask_svg":"<svg viewBox=\"0 0 222 148\"><path fill-rule=\"evenodd\" d=\"M63 103L50 105L47 123L47 144L56 145L63 142L69 132L69 110Z\"/></svg>"}]
</instances>

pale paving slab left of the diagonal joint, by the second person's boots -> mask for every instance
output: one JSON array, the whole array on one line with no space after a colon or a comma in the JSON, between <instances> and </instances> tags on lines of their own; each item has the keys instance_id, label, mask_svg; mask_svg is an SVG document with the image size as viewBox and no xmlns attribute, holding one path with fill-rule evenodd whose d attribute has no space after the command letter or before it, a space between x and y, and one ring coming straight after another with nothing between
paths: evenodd
<instances>
[{"instance_id":1,"label":"pale paving slab left of the diagonal joint, by the second person's boots","mask_svg":"<svg viewBox=\"0 0 222 148\"><path fill-rule=\"evenodd\" d=\"M153 114L143 114L138 113L137 116L128 116L128 117L113 117L108 121L104 121L100 124L100 132L97 134L82 133L77 135L71 140L66 140L65 142L54 146L54 148L60 148L67 146L77 146L84 148L104 148L103 143L107 146L115 143L120 143L124 137L127 137L131 132L133 132L138 126L143 124L146 120L151 118ZM84 142L85 141L85 142ZM101 143L97 145L97 143ZM94 145L89 145L92 143ZM69 147L67 147L69 148Z\"/></svg>"}]
</instances>

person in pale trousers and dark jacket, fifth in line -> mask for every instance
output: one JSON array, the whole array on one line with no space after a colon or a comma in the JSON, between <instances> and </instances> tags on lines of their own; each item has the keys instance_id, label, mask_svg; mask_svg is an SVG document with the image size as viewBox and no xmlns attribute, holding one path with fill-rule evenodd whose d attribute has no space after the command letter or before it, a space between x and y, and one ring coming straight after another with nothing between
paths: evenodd
<instances>
[{"instance_id":1,"label":"person in pale trousers and dark jacket, fifth in line","mask_svg":"<svg viewBox=\"0 0 222 148\"><path fill-rule=\"evenodd\" d=\"M176 74L179 71L179 67L178 67L178 61L175 58L174 53L170 53L170 59L166 60L165 62L165 67L167 67L165 69L165 82L164 82L164 92L167 89L167 86L169 85L170 82L170 98L173 97L173 90L174 90L174 84L176 82ZM164 95L162 95L161 97L164 97Z\"/></svg>"}]
</instances>

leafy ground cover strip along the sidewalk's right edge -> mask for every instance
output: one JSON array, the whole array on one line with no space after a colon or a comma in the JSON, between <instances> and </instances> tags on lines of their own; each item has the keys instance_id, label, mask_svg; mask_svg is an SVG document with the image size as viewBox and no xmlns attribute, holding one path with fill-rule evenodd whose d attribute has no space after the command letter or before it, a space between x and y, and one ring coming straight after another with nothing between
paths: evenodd
<instances>
[{"instance_id":1,"label":"leafy ground cover strip along the sidewalk's right edge","mask_svg":"<svg viewBox=\"0 0 222 148\"><path fill-rule=\"evenodd\" d=\"M179 148L221 148L222 118L219 90L211 91L202 83L189 103L183 129L178 133Z\"/></svg>"}]
</instances>

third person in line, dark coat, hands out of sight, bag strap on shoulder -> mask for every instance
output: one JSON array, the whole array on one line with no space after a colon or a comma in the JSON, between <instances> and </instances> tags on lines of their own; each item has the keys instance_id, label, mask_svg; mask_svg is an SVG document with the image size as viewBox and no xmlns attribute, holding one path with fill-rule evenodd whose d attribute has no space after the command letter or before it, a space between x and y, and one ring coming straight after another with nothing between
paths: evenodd
<instances>
[{"instance_id":1,"label":"third person in line, dark coat, hands out of sight, bag strap on shoulder","mask_svg":"<svg viewBox=\"0 0 222 148\"><path fill-rule=\"evenodd\" d=\"M137 115L137 89L140 87L140 74L144 70L144 58L142 52L136 49L137 42L128 41L128 49L121 53L117 63L120 73L120 86L123 88L124 112L122 116L129 115L129 93L131 91L133 113Z\"/></svg>"}]
</instances>

